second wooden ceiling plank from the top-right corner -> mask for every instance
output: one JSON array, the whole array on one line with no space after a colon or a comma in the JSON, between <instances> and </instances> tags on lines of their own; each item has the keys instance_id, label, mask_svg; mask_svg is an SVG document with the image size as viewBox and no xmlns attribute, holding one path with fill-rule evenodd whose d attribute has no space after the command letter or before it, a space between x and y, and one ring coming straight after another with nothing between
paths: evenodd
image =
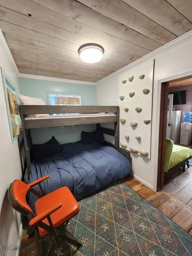
<instances>
[{"instance_id":1,"label":"second wooden ceiling plank from the top-right corner","mask_svg":"<svg viewBox=\"0 0 192 256\"><path fill-rule=\"evenodd\" d=\"M166 0L122 0L176 36L192 29L192 23ZM175 1L175 0L174 0ZM181 1L185 5L185 1ZM192 12L192 9L191 9ZM191 15L192 16L192 15Z\"/></svg>"}]
</instances>

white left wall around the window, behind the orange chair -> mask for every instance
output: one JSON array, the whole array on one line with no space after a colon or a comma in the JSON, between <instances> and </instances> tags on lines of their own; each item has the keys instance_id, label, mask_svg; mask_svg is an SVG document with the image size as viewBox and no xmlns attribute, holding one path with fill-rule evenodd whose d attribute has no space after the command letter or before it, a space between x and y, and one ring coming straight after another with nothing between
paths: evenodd
<instances>
[{"instance_id":1,"label":"white left wall around the window, behind the orange chair","mask_svg":"<svg viewBox=\"0 0 192 256\"><path fill-rule=\"evenodd\" d=\"M6 52L5 39L0 30L0 66L5 70L13 83L18 87L17 74L9 61ZM10 53L10 51L9 51ZM11 57L10 57L11 58ZM21 179L21 164L17 140L11 144L11 136L5 105L2 77L0 75L0 255L16 256L18 251L3 250L10 246L19 245L19 238L22 231L21 216L11 207L7 190L10 183L15 179Z\"/></svg>"}]
</instances>

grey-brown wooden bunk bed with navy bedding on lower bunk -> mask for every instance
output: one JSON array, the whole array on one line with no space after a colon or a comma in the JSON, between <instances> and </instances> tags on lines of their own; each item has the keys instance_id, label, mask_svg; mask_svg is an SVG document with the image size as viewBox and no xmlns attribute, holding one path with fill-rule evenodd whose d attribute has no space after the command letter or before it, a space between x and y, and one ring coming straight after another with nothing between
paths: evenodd
<instances>
[{"instance_id":1,"label":"grey-brown wooden bunk bed with navy bedding on lower bunk","mask_svg":"<svg viewBox=\"0 0 192 256\"><path fill-rule=\"evenodd\" d=\"M24 176L26 183L49 174L50 179L43 182L43 189L46 193L50 193L60 186L68 186L76 199L80 200L105 185L130 174L130 153L119 148L118 106L20 105L20 114L27 162ZM31 114L49 114L49 116L26 117ZM114 130L100 126L101 123L112 122L114 122ZM43 157L40 160L30 160L31 128L81 124L97 124L97 129L104 134L114 136L114 145L106 141L105 145L97 142L84 144L79 141L61 145L62 151L58 154ZM33 198L32 201L34 200Z\"/></svg>"}]
</instances>

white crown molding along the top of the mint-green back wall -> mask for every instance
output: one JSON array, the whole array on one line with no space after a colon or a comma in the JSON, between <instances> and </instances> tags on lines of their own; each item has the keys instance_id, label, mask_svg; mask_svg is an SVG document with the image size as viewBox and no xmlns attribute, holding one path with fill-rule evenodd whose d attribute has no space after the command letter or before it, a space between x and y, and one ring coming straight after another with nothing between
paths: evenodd
<instances>
[{"instance_id":1,"label":"white crown molding along the top of the mint-green back wall","mask_svg":"<svg viewBox=\"0 0 192 256\"><path fill-rule=\"evenodd\" d=\"M70 83L70 84L96 85L96 82L87 82L87 81L71 80L71 79L57 78L57 77L50 77L50 76L31 75L31 74L24 74L24 73L19 73L18 77L48 80L53 82L64 82L64 83Z\"/></svg>"}]
</instances>

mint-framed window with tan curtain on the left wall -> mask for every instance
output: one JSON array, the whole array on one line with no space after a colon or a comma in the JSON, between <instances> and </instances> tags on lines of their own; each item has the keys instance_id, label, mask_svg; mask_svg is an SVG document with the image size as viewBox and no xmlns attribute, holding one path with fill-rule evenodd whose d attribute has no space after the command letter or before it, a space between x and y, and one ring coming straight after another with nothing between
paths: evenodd
<instances>
[{"instance_id":1,"label":"mint-framed window with tan curtain on the left wall","mask_svg":"<svg viewBox=\"0 0 192 256\"><path fill-rule=\"evenodd\" d=\"M5 103L7 108L7 117L11 135L11 142L17 139L21 131L21 118L18 107L17 90L14 83L1 67L1 75L3 80L3 88L5 94Z\"/></svg>"}]
</instances>

